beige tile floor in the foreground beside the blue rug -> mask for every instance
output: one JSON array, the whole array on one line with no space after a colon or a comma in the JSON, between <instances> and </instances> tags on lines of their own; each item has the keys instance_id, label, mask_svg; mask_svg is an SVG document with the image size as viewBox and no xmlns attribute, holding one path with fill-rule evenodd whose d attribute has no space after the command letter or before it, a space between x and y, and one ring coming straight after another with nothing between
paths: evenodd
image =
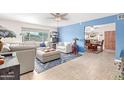
<instances>
[{"instance_id":1,"label":"beige tile floor in the foreground beside the blue rug","mask_svg":"<svg viewBox=\"0 0 124 93\"><path fill-rule=\"evenodd\" d=\"M85 53L69 62L55 66L40 74L31 72L21 80L113 80L118 75L114 53Z\"/></svg>"}]
</instances>

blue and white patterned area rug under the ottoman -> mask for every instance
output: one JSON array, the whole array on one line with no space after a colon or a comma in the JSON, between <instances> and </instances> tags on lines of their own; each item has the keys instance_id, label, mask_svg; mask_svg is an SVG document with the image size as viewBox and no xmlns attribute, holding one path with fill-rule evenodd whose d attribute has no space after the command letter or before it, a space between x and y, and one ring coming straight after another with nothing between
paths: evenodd
<instances>
[{"instance_id":1,"label":"blue and white patterned area rug under the ottoman","mask_svg":"<svg viewBox=\"0 0 124 93\"><path fill-rule=\"evenodd\" d=\"M74 58L80 57L81 54L74 55L74 54L64 54L61 53L61 58L56 59L47 63L42 63L40 60L35 59L35 71L37 73L41 73L43 71L46 71L54 66L60 65L62 63L68 62Z\"/></svg>"}]
</instances>

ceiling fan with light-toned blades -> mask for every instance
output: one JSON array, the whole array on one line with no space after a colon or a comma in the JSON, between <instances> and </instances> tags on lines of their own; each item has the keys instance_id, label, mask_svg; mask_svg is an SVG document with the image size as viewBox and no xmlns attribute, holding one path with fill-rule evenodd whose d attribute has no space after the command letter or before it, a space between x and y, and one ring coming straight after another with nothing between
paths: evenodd
<instances>
[{"instance_id":1,"label":"ceiling fan with light-toned blades","mask_svg":"<svg viewBox=\"0 0 124 93\"><path fill-rule=\"evenodd\" d=\"M68 13L50 13L53 17L49 19L54 19L55 21L59 22L62 20L68 20L65 16L68 15Z\"/></svg>"}]
</instances>

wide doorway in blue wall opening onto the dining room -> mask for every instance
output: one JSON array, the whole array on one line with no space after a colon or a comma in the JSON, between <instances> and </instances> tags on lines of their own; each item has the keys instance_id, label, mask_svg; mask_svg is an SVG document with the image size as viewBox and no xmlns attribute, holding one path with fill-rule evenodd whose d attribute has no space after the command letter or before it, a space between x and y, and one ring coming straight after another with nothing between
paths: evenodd
<instances>
[{"instance_id":1,"label":"wide doorway in blue wall opening onto the dining room","mask_svg":"<svg viewBox=\"0 0 124 93\"><path fill-rule=\"evenodd\" d=\"M115 26L115 23L110 23L85 27L86 50L93 53L100 53L104 50L115 51Z\"/></svg>"}]
</instances>

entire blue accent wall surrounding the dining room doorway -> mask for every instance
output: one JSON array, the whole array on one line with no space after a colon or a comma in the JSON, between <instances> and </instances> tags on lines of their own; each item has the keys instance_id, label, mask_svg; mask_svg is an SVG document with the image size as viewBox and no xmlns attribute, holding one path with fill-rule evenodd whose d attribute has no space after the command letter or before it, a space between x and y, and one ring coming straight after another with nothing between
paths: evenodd
<instances>
[{"instance_id":1,"label":"entire blue accent wall surrounding the dining room doorway","mask_svg":"<svg viewBox=\"0 0 124 93\"><path fill-rule=\"evenodd\" d=\"M108 23L116 24L116 58L120 58L120 52L124 49L124 20L117 20L117 15L99 18L87 22L63 26L58 29L61 42L71 42L73 38L79 38L77 42L79 52L84 51L84 29L89 25L102 25Z\"/></svg>"}]
</instances>

